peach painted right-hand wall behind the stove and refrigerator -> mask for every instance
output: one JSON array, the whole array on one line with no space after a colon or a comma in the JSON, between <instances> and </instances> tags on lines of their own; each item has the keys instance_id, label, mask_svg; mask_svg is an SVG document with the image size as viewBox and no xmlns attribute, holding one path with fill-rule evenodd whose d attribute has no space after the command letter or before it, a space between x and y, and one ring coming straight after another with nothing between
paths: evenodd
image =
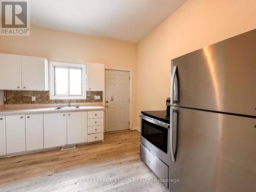
<instances>
[{"instance_id":1,"label":"peach painted right-hand wall behind the stove and refrigerator","mask_svg":"<svg viewBox=\"0 0 256 192\"><path fill-rule=\"evenodd\" d=\"M165 110L170 60L256 28L255 0L188 0L137 47L137 114Z\"/></svg>"}]
</instances>

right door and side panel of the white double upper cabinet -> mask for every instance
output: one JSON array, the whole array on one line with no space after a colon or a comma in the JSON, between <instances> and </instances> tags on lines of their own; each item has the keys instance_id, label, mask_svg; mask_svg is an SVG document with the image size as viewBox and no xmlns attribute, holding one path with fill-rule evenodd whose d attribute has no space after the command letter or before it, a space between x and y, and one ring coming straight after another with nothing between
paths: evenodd
<instances>
[{"instance_id":1,"label":"right door and side panel of the white double upper cabinet","mask_svg":"<svg viewBox=\"0 0 256 192\"><path fill-rule=\"evenodd\" d=\"M22 56L22 89L49 91L48 65L45 58Z\"/></svg>"}]
</instances>

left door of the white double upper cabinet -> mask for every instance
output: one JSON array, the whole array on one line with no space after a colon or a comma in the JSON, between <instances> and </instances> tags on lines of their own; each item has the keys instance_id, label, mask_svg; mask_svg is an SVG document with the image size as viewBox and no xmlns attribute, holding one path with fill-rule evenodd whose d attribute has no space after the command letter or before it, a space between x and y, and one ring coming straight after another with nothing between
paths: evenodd
<instances>
[{"instance_id":1,"label":"left door of the white double upper cabinet","mask_svg":"<svg viewBox=\"0 0 256 192\"><path fill-rule=\"evenodd\" d=\"M20 55L0 53L0 90L22 90Z\"/></svg>"}]
</instances>

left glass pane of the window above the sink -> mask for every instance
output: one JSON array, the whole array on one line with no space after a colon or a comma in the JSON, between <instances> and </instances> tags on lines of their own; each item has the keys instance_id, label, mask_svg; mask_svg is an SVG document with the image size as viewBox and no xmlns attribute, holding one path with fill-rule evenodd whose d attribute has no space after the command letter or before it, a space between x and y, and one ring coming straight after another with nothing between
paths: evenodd
<instances>
[{"instance_id":1,"label":"left glass pane of the window above the sink","mask_svg":"<svg viewBox=\"0 0 256 192\"><path fill-rule=\"evenodd\" d=\"M69 94L69 69L55 67L55 95Z\"/></svg>"}]
</instances>

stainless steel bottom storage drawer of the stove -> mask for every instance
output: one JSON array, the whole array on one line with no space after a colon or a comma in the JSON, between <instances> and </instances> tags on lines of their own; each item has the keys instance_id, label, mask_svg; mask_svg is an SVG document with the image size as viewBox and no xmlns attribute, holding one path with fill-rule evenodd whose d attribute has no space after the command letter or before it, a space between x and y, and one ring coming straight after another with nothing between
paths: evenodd
<instances>
[{"instance_id":1,"label":"stainless steel bottom storage drawer of the stove","mask_svg":"<svg viewBox=\"0 0 256 192\"><path fill-rule=\"evenodd\" d=\"M169 167L142 144L140 144L140 157L160 179L169 178ZM164 182L164 184L168 187L167 182Z\"/></svg>"}]
</instances>

